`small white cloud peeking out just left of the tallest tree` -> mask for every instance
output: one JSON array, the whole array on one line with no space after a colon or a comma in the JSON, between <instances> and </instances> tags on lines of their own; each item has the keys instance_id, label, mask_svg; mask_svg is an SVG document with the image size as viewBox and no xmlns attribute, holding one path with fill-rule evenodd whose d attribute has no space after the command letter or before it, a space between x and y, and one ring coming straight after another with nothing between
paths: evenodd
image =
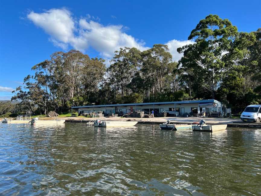
<instances>
[{"instance_id":1,"label":"small white cloud peeking out just left of the tallest tree","mask_svg":"<svg viewBox=\"0 0 261 196\"><path fill-rule=\"evenodd\" d=\"M169 48L170 54L172 54L172 60L178 62L178 60L183 56L183 54L179 54L177 52L177 48L185 46L187 44L194 44L194 41L191 40L185 40L185 41L179 41L179 40L171 40L166 43L166 45Z\"/></svg>"}]
</instances>

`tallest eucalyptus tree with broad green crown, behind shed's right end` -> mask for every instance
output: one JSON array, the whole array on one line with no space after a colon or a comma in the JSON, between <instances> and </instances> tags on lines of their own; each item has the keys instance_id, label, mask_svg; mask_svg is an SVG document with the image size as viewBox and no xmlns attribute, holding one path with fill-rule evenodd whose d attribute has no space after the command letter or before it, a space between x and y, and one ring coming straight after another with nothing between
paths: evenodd
<instances>
[{"instance_id":1,"label":"tallest eucalyptus tree with broad green crown, behind shed's right end","mask_svg":"<svg viewBox=\"0 0 261 196\"><path fill-rule=\"evenodd\" d=\"M246 45L240 43L240 37ZM178 48L179 53L184 53L179 67L185 75L195 75L195 83L215 98L222 79L232 71L242 70L247 47L254 37L253 34L239 33L237 27L227 19L208 15L199 21L188 40L195 43Z\"/></svg>"}]
</instances>

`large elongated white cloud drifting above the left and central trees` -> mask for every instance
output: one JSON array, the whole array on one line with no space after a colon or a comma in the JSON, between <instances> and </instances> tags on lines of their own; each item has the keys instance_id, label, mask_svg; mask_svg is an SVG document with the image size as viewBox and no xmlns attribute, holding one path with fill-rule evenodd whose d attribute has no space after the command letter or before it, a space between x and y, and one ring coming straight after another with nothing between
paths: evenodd
<instances>
[{"instance_id":1,"label":"large elongated white cloud drifting above the left and central trees","mask_svg":"<svg viewBox=\"0 0 261 196\"><path fill-rule=\"evenodd\" d=\"M148 49L143 41L138 41L124 32L122 25L104 26L90 20L99 18L87 15L75 21L67 9L50 9L43 13L31 11L27 18L43 28L51 36L49 39L57 47L66 49L71 45L76 50L85 51L88 47L100 52L103 57L110 58L120 47L137 47L141 51ZM79 25L77 26L77 24Z\"/></svg>"}]
</instances>

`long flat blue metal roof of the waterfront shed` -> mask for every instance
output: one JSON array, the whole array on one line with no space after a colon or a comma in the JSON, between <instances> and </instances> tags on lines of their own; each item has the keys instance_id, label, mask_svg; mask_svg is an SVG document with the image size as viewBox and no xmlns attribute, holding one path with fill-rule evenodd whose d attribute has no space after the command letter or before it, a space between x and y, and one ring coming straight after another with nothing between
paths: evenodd
<instances>
[{"instance_id":1,"label":"long flat blue metal roof of the waterfront shed","mask_svg":"<svg viewBox=\"0 0 261 196\"><path fill-rule=\"evenodd\" d=\"M144 106L144 105L165 105L165 104L188 104L188 103L220 103L217 100L189 100L189 101L169 101L169 102L153 102L153 103L123 103L110 105L91 105L91 106L74 106L72 108L92 108L92 107L115 107L115 106Z\"/></svg>"}]
</instances>

